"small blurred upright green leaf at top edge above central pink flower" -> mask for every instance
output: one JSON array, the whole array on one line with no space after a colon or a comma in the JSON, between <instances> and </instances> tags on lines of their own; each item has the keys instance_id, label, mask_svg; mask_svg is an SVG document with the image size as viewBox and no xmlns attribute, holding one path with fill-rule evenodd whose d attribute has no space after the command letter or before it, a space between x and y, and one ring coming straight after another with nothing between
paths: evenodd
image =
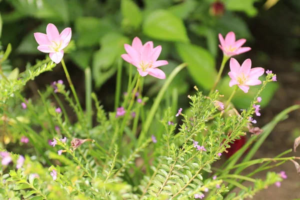
<instances>
[{"instance_id":1,"label":"small blurred upright green leaf at top edge above central pink flower","mask_svg":"<svg viewBox=\"0 0 300 200\"><path fill-rule=\"evenodd\" d=\"M124 25L131 25L134 29L140 25L142 21L141 11L132 0L121 0L121 12Z\"/></svg>"}]
</instances>

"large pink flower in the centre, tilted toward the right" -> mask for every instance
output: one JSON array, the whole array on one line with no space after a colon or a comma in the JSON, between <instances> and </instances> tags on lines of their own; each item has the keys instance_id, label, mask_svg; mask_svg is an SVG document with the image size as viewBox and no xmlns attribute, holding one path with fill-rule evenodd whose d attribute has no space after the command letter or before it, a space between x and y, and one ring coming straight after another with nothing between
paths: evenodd
<instances>
[{"instance_id":1,"label":"large pink flower in the centre, tilted toward the right","mask_svg":"<svg viewBox=\"0 0 300 200\"><path fill-rule=\"evenodd\" d=\"M157 60L161 46L153 48L153 42L148 41L142 45L138 37L134 37L132 45L124 44L127 54L122 54L121 57L136 66L139 75L145 76L147 74L159 79L165 79L165 74L158 66L166 65L166 60Z\"/></svg>"}]
</instances>

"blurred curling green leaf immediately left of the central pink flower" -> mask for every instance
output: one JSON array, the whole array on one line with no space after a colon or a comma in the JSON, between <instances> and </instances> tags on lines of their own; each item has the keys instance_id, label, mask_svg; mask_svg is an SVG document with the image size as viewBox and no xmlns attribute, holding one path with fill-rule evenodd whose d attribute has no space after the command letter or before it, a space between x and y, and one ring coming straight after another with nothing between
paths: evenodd
<instances>
[{"instance_id":1,"label":"blurred curling green leaf immediately left of the central pink flower","mask_svg":"<svg viewBox=\"0 0 300 200\"><path fill-rule=\"evenodd\" d=\"M115 59L119 58L124 52L124 43L129 39L120 33L108 33L100 41L101 48L93 54L92 76L95 80L96 87L101 86L116 71L111 67Z\"/></svg>"}]
</instances>

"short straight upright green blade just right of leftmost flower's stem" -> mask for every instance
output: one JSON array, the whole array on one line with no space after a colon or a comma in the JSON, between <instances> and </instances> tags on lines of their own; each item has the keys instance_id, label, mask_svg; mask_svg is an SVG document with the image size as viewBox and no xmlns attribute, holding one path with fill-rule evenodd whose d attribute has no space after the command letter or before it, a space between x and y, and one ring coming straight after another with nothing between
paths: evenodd
<instances>
[{"instance_id":1,"label":"short straight upright green blade just right of leftmost flower's stem","mask_svg":"<svg viewBox=\"0 0 300 200\"><path fill-rule=\"evenodd\" d=\"M92 113L91 113L91 72L89 67L87 67L84 70L84 74L85 74L85 109L86 109L87 127L90 129L92 127Z\"/></svg>"}]
</instances>

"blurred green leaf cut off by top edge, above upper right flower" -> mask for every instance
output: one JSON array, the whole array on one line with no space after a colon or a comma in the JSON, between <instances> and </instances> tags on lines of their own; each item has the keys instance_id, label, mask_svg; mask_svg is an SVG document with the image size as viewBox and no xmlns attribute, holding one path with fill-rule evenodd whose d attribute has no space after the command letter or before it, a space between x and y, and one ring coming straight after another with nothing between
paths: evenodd
<instances>
[{"instance_id":1,"label":"blurred green leaf cut off by top edge, above upper right flower","mask_svg":"<svg viewBox=\"0 0 300 200\"><path fill-rule=\"evenodd\" d=\"M258 0L226 0L225 7L231 11L244 11L249 16L255 16L257 9L254 7L254 2Z\"/></svg>"}]
</instances>

